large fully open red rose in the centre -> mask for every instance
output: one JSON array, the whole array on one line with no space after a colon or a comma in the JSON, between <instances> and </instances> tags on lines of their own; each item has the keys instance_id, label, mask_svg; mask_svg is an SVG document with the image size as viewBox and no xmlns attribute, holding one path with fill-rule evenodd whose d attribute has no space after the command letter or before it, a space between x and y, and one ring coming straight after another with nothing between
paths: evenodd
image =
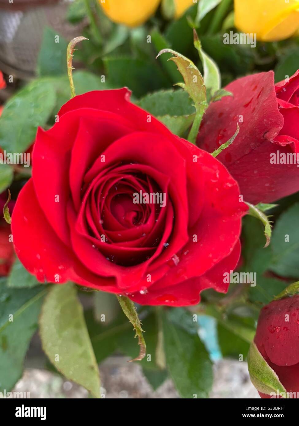
<instances>
[{"instance_id":1,"label":"large fully open red rose in the centre","mask_svg":"<svg viewBox=\"0 0 299 426\"><path fill-rule=\"evenodd\" d=\"M131 104L127 89L76 96L58 116L38 130L12 215L28 271L147 305L226 291L247 206L225 167ZM140 191L165 194L165 207L135 204Z\"/></svg>"}]
</instances>

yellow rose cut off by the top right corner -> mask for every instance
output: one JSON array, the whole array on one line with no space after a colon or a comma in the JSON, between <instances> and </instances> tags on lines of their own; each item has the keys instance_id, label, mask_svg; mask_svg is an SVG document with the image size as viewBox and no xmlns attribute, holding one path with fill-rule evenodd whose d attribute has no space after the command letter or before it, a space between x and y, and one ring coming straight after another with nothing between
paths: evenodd
<instances>
[{"instance_id":1,"label":"yellow rose cut off by the top right corner","mask_svg":"<svg viewBox=\"0 0 299 426\"><path fill-rule=\"evenodd\" d=\"M299 29L299 0L235 0L235 26L261 41L284 40Z\"/></svg>"}]
</instances>

